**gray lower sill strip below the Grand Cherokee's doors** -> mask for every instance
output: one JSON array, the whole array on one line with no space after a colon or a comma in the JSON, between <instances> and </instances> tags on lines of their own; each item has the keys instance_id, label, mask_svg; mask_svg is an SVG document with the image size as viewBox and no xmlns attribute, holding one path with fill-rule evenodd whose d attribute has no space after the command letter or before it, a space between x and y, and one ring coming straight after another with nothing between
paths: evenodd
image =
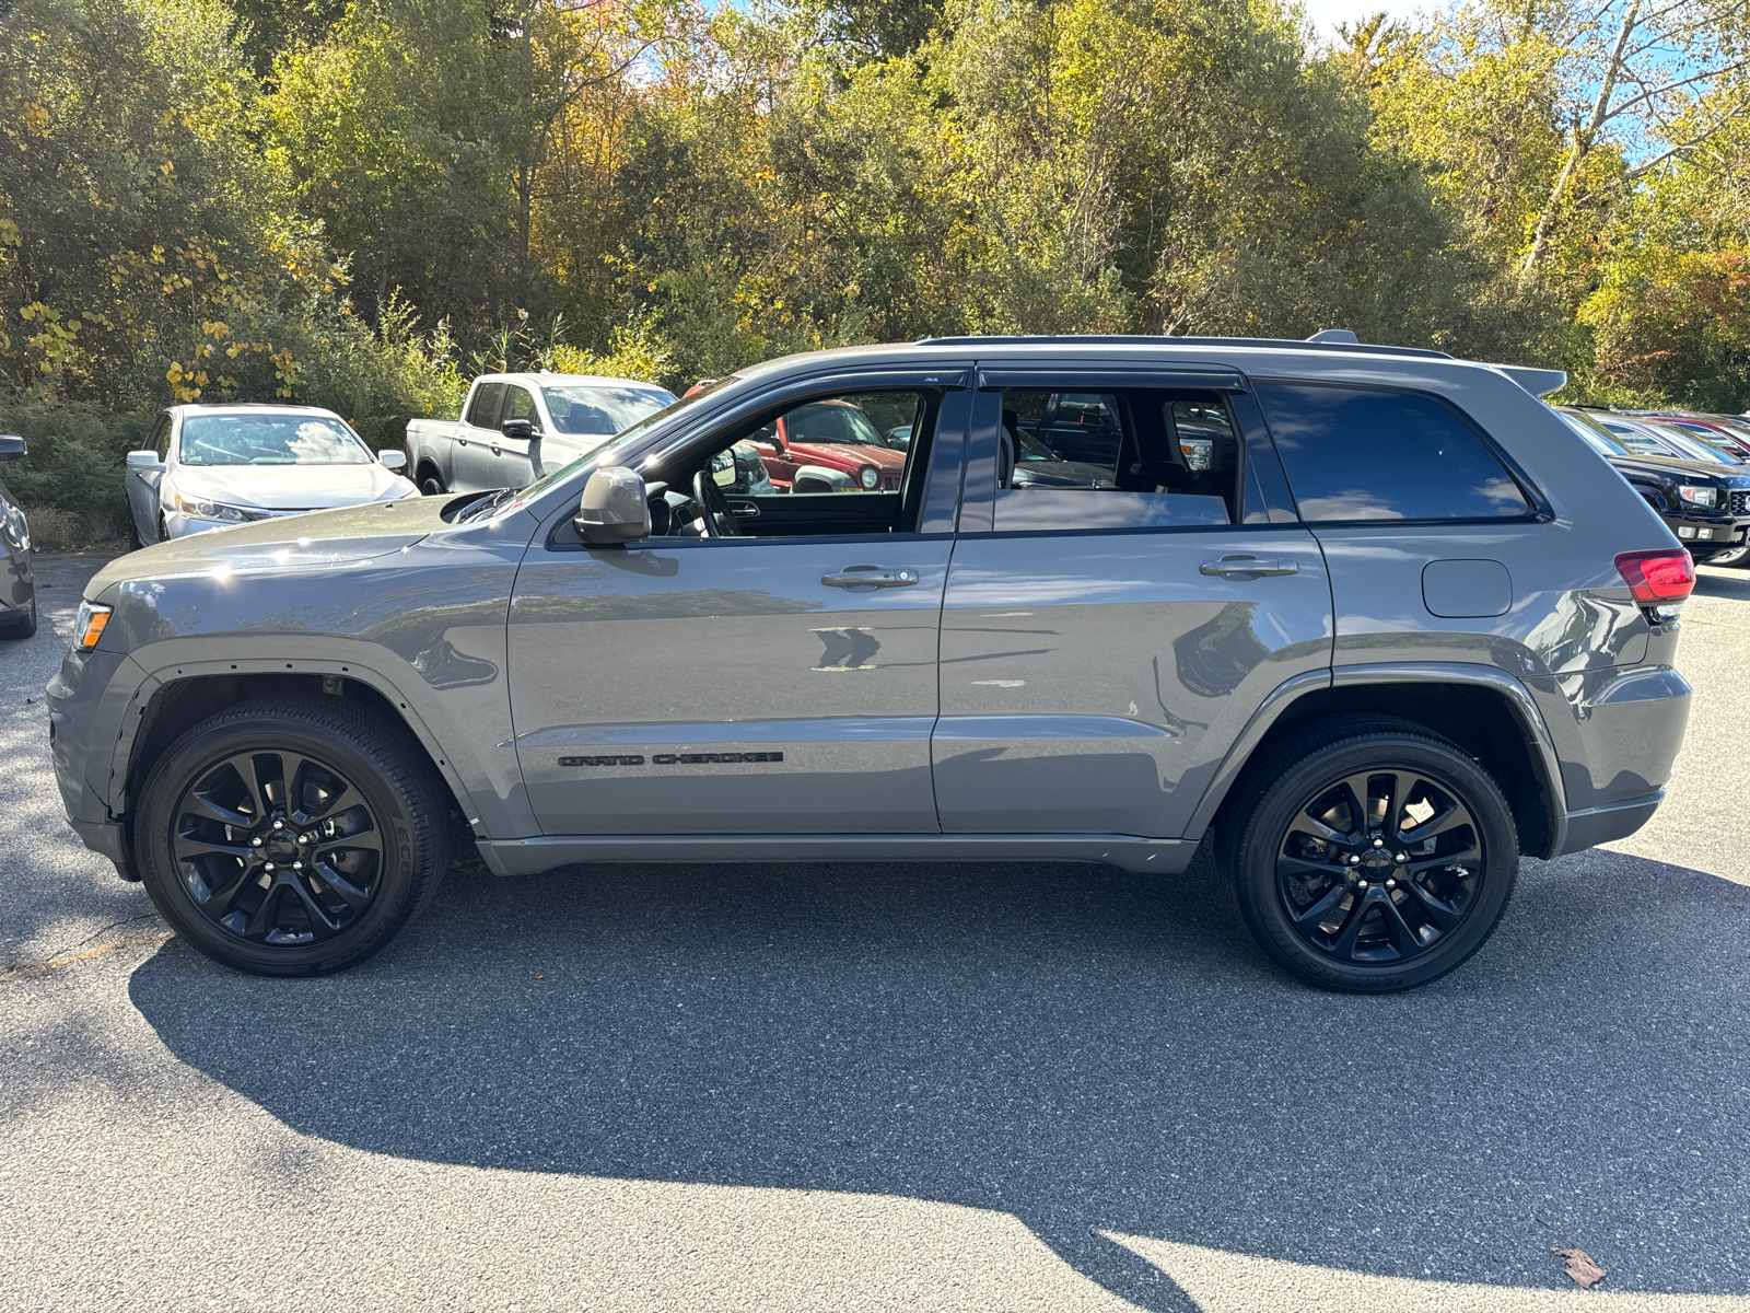
<instances>
[{"instance_id":1,"label":"gray lower sill strip below the Grand Cherokee's doors","mask_svg":"<svg viewBox=\"0 0 1750 1313\"><path fill-rule=\"evenodd\" d=\"M494 875L539 875L583 861L1097 861L1178 875L1192 839L1136 835L542 835L481 839Z\"/></svg>"}]
</instances>

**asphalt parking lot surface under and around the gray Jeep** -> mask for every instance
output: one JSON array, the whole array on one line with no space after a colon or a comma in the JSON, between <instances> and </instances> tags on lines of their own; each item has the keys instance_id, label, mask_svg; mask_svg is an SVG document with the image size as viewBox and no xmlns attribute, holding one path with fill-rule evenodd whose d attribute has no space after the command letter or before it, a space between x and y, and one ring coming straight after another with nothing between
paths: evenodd
<instances>
[{"instance_id":1,"label":"asphalt parking lot surface under and around the gray Jeep","mask_svg":"<svg viewBox=\"0 0 1750 1313\"><path fill-rule=\"evenodd\" d=\"M1340 998L1202 860L458 865L360 970L234 975L61 816L98 564L0 648L0 1308L1750 1309L1750 572L1654 823Z\"/></svg>"}]
</instances>

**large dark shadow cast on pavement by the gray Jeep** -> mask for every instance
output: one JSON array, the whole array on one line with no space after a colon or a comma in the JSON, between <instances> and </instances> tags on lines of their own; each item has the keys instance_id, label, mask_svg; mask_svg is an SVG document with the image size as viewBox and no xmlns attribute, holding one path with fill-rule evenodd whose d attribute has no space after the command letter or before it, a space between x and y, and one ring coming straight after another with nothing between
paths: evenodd
<instances>
[{"instance_id":1,"label":"large dark shadow cast on pavement by the gray Jeep","mask_svg":"<svg viewBox=\"0 0 1750 1313\"><path fill-rule=\"evenodd\" d=\"M858 1190L1390 1276L1750 1292L1750 889L1526 863L1500 933L1390 998L1304 989L1206 860L474 868L380 958L131 980L175 1056L294 1129L413 1159Z\"/></svg>"}]
</instances>

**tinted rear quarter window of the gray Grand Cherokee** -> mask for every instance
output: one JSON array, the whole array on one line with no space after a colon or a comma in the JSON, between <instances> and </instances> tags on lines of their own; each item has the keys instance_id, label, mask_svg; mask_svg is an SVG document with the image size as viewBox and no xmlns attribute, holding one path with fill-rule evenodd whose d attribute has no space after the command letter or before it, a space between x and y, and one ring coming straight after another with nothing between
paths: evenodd
<instances>
[{"instance_id":1,"label":"tinted rear quarter window of the gray Grand Cherokee","mask_svg":"<svg viewBox=\"0 0 1750 1313\"><path fill-rule=\"evenodd\" d=\"M1304 520L1496 520L1530 513L1500 459L1428 397L1260 383Z\"/></svg>"}]
</instances>

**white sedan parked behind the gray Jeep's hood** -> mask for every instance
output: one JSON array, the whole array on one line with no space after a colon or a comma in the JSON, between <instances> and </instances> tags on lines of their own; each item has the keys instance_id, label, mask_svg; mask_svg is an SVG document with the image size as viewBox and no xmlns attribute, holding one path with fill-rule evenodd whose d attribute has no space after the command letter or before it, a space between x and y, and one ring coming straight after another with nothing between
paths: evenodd
<instances>
[{"instance_id":1,"label":"white sedan parked behind the gray Jeep's hood","mask_svg":"<svg viewBox=\"0 0 1750 1313\"><path fill-rule=\"evenodd\" d=\"M250 520L416 495L340 415L315 406L172 406L128 453L133 546Z\"/></svg>"}]
</instances>

